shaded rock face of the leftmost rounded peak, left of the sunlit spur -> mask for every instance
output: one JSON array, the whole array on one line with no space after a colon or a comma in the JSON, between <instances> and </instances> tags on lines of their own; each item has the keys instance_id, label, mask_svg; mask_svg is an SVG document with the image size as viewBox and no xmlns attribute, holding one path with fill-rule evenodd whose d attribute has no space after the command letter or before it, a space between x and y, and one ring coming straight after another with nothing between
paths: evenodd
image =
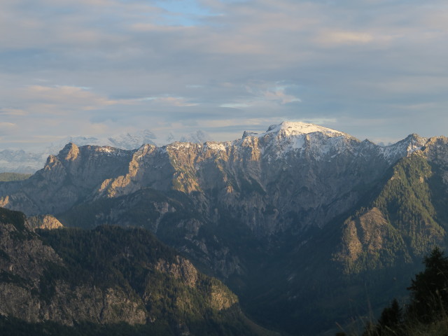
<instances>
[{"instance_id":1,"label":"shaded rock face of the leftmost rounded peak, left of the sunlit spur","mask_svg":"<svg viewBox=\"0 0 448 336\"><path fill-rule=\"evenodd\" d=\"M20 209L28 216L57 214L84 200L105 177L124 174L131 156L132 151L68 144L11 195L8 186L0 188L1 207Z\"/></svg>"}]
</instances>

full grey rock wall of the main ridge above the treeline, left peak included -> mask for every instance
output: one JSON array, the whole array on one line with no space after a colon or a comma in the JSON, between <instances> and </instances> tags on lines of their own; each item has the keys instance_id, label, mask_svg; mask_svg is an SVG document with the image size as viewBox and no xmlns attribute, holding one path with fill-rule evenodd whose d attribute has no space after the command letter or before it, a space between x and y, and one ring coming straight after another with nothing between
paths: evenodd
<instances>
[{"instance_id":1,"label":"full grey rock wall of the main ridge above the treeline, left peak included","mask_svg":"<svg viewBox=\"0 0 448 336\"><path fill-rule=\"evenodd\" d=\"M142 188L174 189L190 195L209 220L230 211L267 236L323 227L425 141L409 136L384 148L325 127L282 123L229 143L145 145L138 151L69 144L29 181L15 189L0 186L0 205L28 215L58 214Z\"/></svg>"}]
</instances>

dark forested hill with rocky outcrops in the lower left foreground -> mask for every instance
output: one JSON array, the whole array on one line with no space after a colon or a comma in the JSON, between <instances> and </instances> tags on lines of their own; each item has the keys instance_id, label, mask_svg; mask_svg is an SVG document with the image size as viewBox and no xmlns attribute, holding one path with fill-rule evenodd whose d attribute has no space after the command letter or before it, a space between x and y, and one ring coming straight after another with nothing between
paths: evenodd
<instances>
[{"instance_id":1,"label":"dark forested hill with rocky outcrops in the lower left foreground","mask_svg":"<svg viewBox=\"0 0 448 336\"><path fill-rule=\"evenodd\" d=\"M1 335L269 335L150 232L32 231L0 208Z\"/></svg>"}]
</instances>

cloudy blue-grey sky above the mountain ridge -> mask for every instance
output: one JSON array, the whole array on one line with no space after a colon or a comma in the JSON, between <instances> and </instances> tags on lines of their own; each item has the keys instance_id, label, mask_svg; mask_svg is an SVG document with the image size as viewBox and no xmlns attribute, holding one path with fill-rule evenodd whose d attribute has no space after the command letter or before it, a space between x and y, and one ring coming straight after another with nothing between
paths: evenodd
<instances>
[{"instance_id":1,"label":"cloudy blue-grey sky above the mountain ridge","mask_svg":"<svg viewBox=\"0 0 448 336\"><path fill-rule=\"evenodd\" d=\"M1 0L0 148L283 120L448 135L447 41L446 1Z\"/></svg>"}]
</instances>

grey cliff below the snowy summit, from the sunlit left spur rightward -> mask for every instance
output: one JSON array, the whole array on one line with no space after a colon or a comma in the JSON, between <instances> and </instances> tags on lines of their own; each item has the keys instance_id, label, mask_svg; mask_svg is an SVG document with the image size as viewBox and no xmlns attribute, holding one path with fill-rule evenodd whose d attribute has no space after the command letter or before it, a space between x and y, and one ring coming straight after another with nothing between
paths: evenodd
<instances>
[{"instance_id":1,"label":"grey cliff below the snowy summit, from the sunlit left spur rightward","mask_svg":"<svg viewBox=\"0 0 448 336\"><path fill-rule=\"evenodd\" d=\"M174 189L214 221L216 209L238 214L255 235L300 231L323 227L352 207L393 162L424 141L411 136L384 148L325 127L283 123L227 143L144 146L127 174L106 179L94 193L98 199Z\"/></svg>"}]
</instances>

